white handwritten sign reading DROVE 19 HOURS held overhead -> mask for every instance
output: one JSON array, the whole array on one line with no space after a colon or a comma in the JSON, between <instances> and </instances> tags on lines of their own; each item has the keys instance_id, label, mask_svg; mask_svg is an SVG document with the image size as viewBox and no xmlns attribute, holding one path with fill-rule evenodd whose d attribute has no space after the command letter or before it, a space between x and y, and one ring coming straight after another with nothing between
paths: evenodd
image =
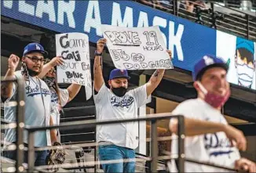
<instances>
[{"instance_id":1,"label":"white handwritten sign reading DROVE 19 HOURS held overhead","mask_svg":"<svg viewBox=\"0 0 256 173\"><path fill-rule=\"evenodd\" d=\"M172 69L159 27L101 25L116 68L127 70Z\"/></svg>"}]
</instances>

